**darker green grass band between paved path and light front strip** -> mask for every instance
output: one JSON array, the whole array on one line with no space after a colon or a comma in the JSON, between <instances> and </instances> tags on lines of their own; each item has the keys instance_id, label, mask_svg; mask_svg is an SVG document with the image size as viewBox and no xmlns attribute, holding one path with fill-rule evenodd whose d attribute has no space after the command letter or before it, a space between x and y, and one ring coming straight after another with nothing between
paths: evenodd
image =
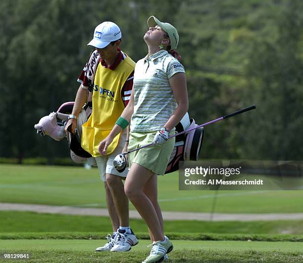
<instances>
[{"instance_id":1,"label":"darker green grass band between paved path and light front strip","mask_svg":"<svg viewBox=\"0 0 303 263\"><path fill-rule=\"evenodd\" d=\"M131 219L135 232L148 232L146 223ZM165 232L239 233L239 234L303 234L303 220L277 221L196 221L164 222ZM110 232L108 217L40 214L33 212L0 212L0 233L3 232Z\"/></svg>"}]
</instances>

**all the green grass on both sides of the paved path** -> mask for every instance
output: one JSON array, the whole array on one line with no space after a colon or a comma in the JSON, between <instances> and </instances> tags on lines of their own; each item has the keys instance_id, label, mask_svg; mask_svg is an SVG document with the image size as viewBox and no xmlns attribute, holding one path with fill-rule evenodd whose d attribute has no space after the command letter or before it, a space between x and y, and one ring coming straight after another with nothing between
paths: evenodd
<instances>
[{"instance_id":1,"label":"all the green grass on both sides of the paved path","mask_svg":"<svg viewBox=\"0 0 303 263\"><path fill-rule=\"evenodd\" d=\"M214 191L179 191L177 173L159 176L158 184L163 211L211 211ZM303 191L217 194L218 213L303 213ZM82 167L0 165L0 202L106 207L97 169ZM39 263L142 262L150 252L147 226L138 219L131 225L140 242L130 252L95 253L111 231L107 217L2 211L0 262L7 262L4 253L29 253L27 262ZM171 220L165 231L174 245L169 262L303 262L303 220Z\"/></svg>"}]
</instances>

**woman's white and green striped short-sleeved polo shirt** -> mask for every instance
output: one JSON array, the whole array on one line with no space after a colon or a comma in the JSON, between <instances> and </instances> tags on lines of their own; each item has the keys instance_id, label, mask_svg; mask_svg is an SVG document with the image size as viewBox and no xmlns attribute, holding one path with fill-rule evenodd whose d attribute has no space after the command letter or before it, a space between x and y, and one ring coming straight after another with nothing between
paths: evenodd
<instances>
[{"instance_id":1,"label":"woman's white and green striped short-sleeved polo shirt","mask_svg":"<svg viewBox=\"0 0 303 263\"><path fill-rule=\"evenodd\" d=\"M134 113L131 132L153 132L162 128L177 108L169 79L184 67L166 50L140 59L134 73Z\"/></svg>"}]
</instances>

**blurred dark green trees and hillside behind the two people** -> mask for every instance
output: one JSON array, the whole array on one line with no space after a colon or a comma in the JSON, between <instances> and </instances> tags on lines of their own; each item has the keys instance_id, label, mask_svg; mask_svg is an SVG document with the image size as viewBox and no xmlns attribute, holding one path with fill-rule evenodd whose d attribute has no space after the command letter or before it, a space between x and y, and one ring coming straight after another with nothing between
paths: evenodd
<instances>
[{"instance_id":1,"label":"blurred dark green trees and hillside behind the two people","mask_svg":"<svg viewBox=\"0 0 303 263\"><path fill-rule=\"evenodd\" d=\"M68 157L67 143L34 124L74 100L94 28L117 23L122 49L147 53L147 18L178 29L190 116L201 124L242 107L257 110L205 128L202 158L300 160L303 14L300 0L2 0L0 157Z\"/></svg>"}]
</instances>

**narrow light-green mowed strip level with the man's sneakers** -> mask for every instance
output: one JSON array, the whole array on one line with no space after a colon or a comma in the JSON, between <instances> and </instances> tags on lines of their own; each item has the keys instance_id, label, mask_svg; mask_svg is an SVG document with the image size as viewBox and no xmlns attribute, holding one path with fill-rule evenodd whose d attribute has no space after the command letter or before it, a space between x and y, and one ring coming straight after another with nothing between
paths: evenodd
<instances>
[{"instance_id":1,"label":"narrow light-green mowed strip level with the man's sneakers","mask_svg":"<svg viewBox=\"0 0 303 263\"><path fill-rule=\"evenodd\" d=\"M0 248L3 251L15 250L47 250L47 251L85 251L92 252L105 240L75 240L75 239L47 239L47 240L0 240ZM172 240L174 250L256 250L256 251L279 251L279 252L301 252L303 253L303 242L268 242L268 241L191 241L191 240ZM146 250L151 244L150 240L139 240L139 244L132 247L133 252Z\"/></svg>"}]
</instances>

